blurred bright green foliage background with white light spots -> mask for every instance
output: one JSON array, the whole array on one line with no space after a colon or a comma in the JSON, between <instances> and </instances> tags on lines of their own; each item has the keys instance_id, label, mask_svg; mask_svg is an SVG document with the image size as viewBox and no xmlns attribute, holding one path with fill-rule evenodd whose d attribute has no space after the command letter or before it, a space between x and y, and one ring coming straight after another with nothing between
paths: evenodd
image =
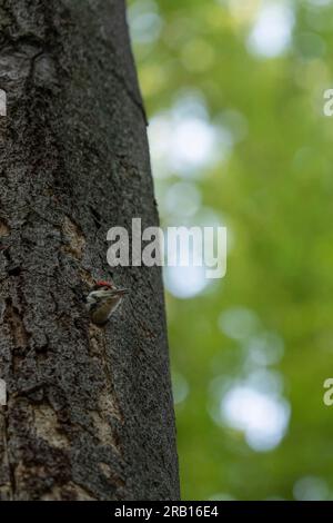
<instances>
[{"instance_id":1,"label":"blurred bright green foliage background with white light spots","mask_svg":"<svg viewBox=\"0 0 333 523\"><path fill-rule=\"evenodd\" d=\"M185 500L332 500L331 0L134 0L163 227L228 227L228 274L167 268Z\"/></svg>"}]
</instances>

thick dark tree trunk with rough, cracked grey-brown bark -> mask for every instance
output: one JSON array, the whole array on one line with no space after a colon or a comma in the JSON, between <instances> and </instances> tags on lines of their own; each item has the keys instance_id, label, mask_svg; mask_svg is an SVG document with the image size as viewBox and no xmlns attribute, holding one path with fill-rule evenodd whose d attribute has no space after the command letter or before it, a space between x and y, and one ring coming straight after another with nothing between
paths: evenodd
<instances>
[{"instance_id":1,"label":"thick dark tree trunk with rough, cracked grey-brown bark","mask_svg":"<svg viewBox=\"0 0 333 523\"><path fill-rule=\"evenodd\" d=\"M158 224L122 0L0 0L0 499L179 496L158 268L107 230ZM101 329L84 299L130 297Z\"/></svg>"}]
</instances>

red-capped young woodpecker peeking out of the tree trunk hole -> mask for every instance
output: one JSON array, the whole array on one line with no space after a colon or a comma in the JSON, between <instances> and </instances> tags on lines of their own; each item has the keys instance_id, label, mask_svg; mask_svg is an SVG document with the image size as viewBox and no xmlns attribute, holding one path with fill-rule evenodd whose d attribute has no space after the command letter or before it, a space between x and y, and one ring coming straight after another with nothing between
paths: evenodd
<instances>
[{"instance_id":1,"label":"red-capped young woodpecker peeking out of the tree trunk hole","mask_svg":"<svg viewBox=\"0 0 333 523\"><path fill-rule=\"evenodd\" d=\"M87 308L91 320L97 325L105 325L128 293L129 289L117 288L114 284L109 282L97 282L87 296Z\"/></svg>"}]
</instances>

